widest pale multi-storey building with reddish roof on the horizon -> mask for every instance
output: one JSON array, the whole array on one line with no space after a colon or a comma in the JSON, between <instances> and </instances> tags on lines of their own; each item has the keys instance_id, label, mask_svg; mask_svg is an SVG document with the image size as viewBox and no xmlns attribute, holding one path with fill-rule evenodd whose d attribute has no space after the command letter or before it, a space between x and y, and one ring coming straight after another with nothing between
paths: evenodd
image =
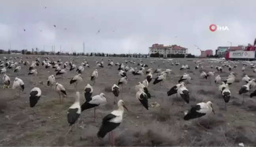
<instances>
[{"instance_id":1,"label":"widest pale multi-storey building with reddish roof on the horizon","mask_svg":"<svg viewBox=\"0 0 256 147\"><path fill-rule=\"evenodd\" d=\"M149 54L159 53L167 57L168 54L184 54L187 56L188 48L184 48L177 45L168 45L164 46L162 44L153 44L152 47L149 47Z\"/></svg>"}]
</instances>

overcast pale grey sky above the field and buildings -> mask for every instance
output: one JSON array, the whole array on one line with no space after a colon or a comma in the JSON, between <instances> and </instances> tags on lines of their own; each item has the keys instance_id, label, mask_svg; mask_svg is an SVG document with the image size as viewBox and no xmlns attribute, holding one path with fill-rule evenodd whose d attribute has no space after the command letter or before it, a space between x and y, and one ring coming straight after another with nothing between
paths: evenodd
<instances>
[{"instance_id":1,"label":"overcast pale grey sky above the field and buildings","mask_svg":"<svg viewBox=\"0 0 256 147\"><path fill-rule=\"evenodd\" d=\"M0 0L0 49L55 45L56 52L60 46L83 52L85 42L85 52L147 54L159 43L198 55L195 45L252 44L255 6L253 0ZM211 32L211 24L228 30Z\"/></svg>"}]
</instances>

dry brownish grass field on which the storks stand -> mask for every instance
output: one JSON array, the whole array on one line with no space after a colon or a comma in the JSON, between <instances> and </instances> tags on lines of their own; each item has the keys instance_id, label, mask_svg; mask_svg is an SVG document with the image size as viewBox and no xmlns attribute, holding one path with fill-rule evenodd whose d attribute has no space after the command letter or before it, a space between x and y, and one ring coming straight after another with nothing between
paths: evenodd
<instances>
[{"instance_id":1,"label":"dry brownish grass field on which the storks stand","mask_svg":"<svg viewBox=\"0 0 256 147\"><path fill-rule=\"evenodd\" d=\"M6 55L8 57L8 55ZM4 55L0 56L3 60ZM14 56L13 56L14 57ZM32 59L24 61L35 61L36 56ZM57 61L59 58L63 62L70 61L71 56L51 56ZM46 56L40 56L43 61ZM75 56L74 58L77 58ZM90 81L90 75L96 68L94 60L100 61L99 57L79 56L79 59L73 61L76 65L81 65L83 59L87 59L90 68L85 67L82 73L83 82L78 84L77 91L80 92L81 102L84 101L83 90ZM94 84L93 94L98 95L105 93L107 104L100 106L96 110L96 121L93 121L93 110L86 110L80 116L78 127L73 128L65 136L69 129L66 113L68 108L75 100L75 88L69 84L70 79L77 73L68 72L64 79L60 76L56 77L56 82L62 84L67 91L68 98L64 99L64 104L59 104L58 94L47 87L47 78L51 74L55 75L54 69L45 69L40 65L36 67L38 76L28 76L28 68L30 65L21 65L19 75L8 70L7 74L11 78L11 86L15 77L21 78L24 81L25 89L21 92L21 97L18 96L18 91L13 89L0 89L0 147L109 147L108 136L104 140L99 140L96 133L101 125L102 118L109 112L117 109L117 105L113 105L114 95L111 93L111 86L117 84L120 76L117 66L114 65L110 69L108 58L104 59L104 68L98 69L98 78ZM124 63L124 58L111 58L114 63ZM129 60L129 59L127 59ZM129 66L137 67L139 60L136 60L136 65L128 63ZM159 84L149 84L149 91L152 98L149 103L157 102L159 107L152 107L149 110L141 111L141 104L136 99L134 86L137 82L142 82L145 77L134 76L131 73L128 75L128 84L124 86L124 90L120 89L118 99L124 100L126 106L130 110L124 112L124 119L121 125L115 130L115 145L116 147L238 147L238 143L243 143L245 147L256 147L256 100L250 99L249 94L246 95L245 103L242 104L243 97L238 95L241 86L245 85L242 82L243 73L241 71L242 64L238 63L237 68L232 70L237 73L237 80L230 86L232 99L228 103L228 109L224 109L224 102L218 87L214 83L215 77L211 80L200 78L201 71L215 71L210 66L220 66L222 64L209 63L207 60L202 61L204 69L195 70L195 59L174 59L180 61L180 64L188 64L190 69L180 71L179 66L171 66L171 61L163 64L162 61L157 61L154 64L152 60L143 58L143 63L149 65L153 69L171 69L172 74L168 75L166 81ZM19 61L16 59L15 61ZM68 66L69 67L69 66ZM147 68L146 68L147 69ZM190 104L184 104L179 96L167 96L167 91L177 84L177 81L183 73L190 74L192 81L186 84L186 88L190 91ZM219 74L222 80L228 77L228 68L224 68ZM256 78L256 74L247 66L246 74L251 78ZM154 78L157 76L153 75ZM43 84L39 84L43 81ZM1 80L2 83L2 80ZM40 87L42 96L38 104L34 107L37 109L36 115L33 115L32 109L29 107L29 93L33 87ZM252 89L252 91L255 89ZM173 105L172 101L175 101ZM216 114L210 114L200 119L200 125L197 119L191 121L183 120L184 110L188 110L191 105L198 102L211 100ZM209 124L207 123L209 121Z\"/></svg>"}]
</instances>

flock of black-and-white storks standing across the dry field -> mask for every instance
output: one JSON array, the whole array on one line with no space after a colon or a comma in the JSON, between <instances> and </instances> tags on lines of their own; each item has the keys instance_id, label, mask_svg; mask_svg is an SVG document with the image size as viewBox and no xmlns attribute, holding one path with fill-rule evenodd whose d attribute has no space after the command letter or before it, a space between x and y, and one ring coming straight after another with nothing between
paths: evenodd
<instances>
[{"instance_id":1,"label":"flock of black-and-white storks standing across the dry field","mask_svg":"<svg viewBox=\"0 0 256 147\"><path fill-rule=\"evenodd\" d=\"M32 58L32 57L26 57L26 58ZM19 59L19 62L15 61L18 59ZM0 60L0 67L3 67L0 70L0 73L1 73L1 75L4 74L2 77L4 86L2 86L2 88L8 88L10 85L11 80L10 80L9 76L6 74L8 69L10 71L17 73L17 76L18 76L19 72L21 71L22 64L24 66L30 65L30 67L28 69L29 70L28 75L37 75L38 71L37 71L36 67L40 66L40 64L41 64L41 65L45 66L46 69L47 68L55 69L56 76L60 75L62 78L63 78L63 75L65 75L65 73L67 73L68 65L70 66L70 68L69 68L70 72L75 72L75 69L76 69L76 72L78 74L70 80L70 84L73 84L74 87L77 89L77 83L83 81L83 77L82 77L81 73L83 73L85 67L90 68L90 65L88 64L86 59L78 67L76 67L76 65L73 64L72 61L73 61L73 59L71 59L70 62L66 61L64 63L61 61L61 59L59 59L58 61L54 61L53 58L50 60L50 58L48 57L48 58L45 58L41 63L40 58L36 58L36 60L32 61L31 65L30 65L30 63L28 61L23 61L22 57L14 57L14 58L10 57L9 60L8 60L8 58L4 57L4 60ZM151 98L151 94L149 92L148 86L152 80L152 77L153 77L152 74L155 74L155 73L159 74L154 79L153 85L159 83L161 86L161 82L166 80L166 77L168 76L168 74L172 73L172 70L170 70L170 69L166 69L166 70L155 69L153 71L152 68L145 69L149 66L146 64L143 64L142 60L139 63L137 63L137 65L140 66L140 69L137 69L137 67L136 68L129 67L128 62L130 64L136 64L135 60L130 60L130 61L125 60L124 63L121 63L121 64L119 64L119 63L114 64L113 60L111 60L111 59L108 59L108 61L109 61L109 63L107 64L107 66L109 66L109 68L112 68L114 65L116 65L119 70L119 75L122 76L122 78L119 79L118 83L113 84L113 86L111 87L111 91L115 97L113 103L114 104L117 103L118 109L114 110L113 112L111 112L110 114L106 115L103 118L102 125L97 133L97 136L99 138L104 138L104 136L108 132L110 132L109 137L111 140L111 145L114 145L114 137L113 137L112 131L115 128L117 128L120 125L120 123L122 122L124 109L128 110L126 108L123 100L119 100L117 102L117 97L119 97L119 93L120 93L119 86L121 85L122 88L124 88L123 86L128 83L127 72L133 74L134 76L139 75L139 77L146 74L145 80L143 80L142 82L138 82L138 84L135 86L135 90L136 90L136 98L142 104L142 108L149 110L148 99ZM169 61L167 61L167 62L169 63ZM104 68L103 59L100 62L95 60L95 63L96 63L97 68ZM153 63L155 63L155 61L151 61L151 64L153 64ZM220 61L219 63L222 64L222 66L216 66L215 69L217 70L217 72L220 72L220 73L222 72L222 68L224 68L224 67L228 67L229 71L232 71L232 68L237 67L237 65L234 65L233 67L231 67L231 65L229 65L229 64L234 64L235 62L233 62L233 61L231 61L231 62ZM127 64L127 65L125 65L125 64ZM163 64L164 64L164 61L163 61ZM175 61L175 63L173 63L171 61L170 65L174 66L174 65L179 65L179 64L180 64L179 61ZM198 70L199 68L200 69L204 68L201 65L200 61L196 61L195 64L196 64L195 70ZM243 65L247 66L246 63L244 63ZM255 65L253 65L251 68L254 68L254 67L255 67ZM213 67L213 65L211 65L211 67L209 67L209 68L213 69L214 67ZM190 67L188 65L182 65L180 68L181 71L185 70L185 69L190 69ZM242 68L242 71L243 72L245 71L245 67ZM256 72L256 69L254 69L254 72ZM202 71L200 74L200 77L205 78L205 79L210 78L211 76L215 76L215 72L205 73L204 71ZM98 71L97 71L97 69L95 69L92 72L91 77L90 77L90 80L93 82L92 85L94 85L94 83L96 82L97 77L98 77ZM215 83L220 84L219 91L221 92L223 100L226 104L225 108L227 108L226 107L227 103L229 102L230 97L231 97L229 85L233 84L235 82L235 77L236 77L236 74L234 72L231 72L230 75L228 76L228 78L226 80L224 80L223 82L221 81L220 75L217 75L215 77ZM248 91L250 91L250 89L252 89L253 87L256 86L255 79L251 79L247 75L245 75L245 77L242 80L245 81L247 84L242 86L241 89L239 90L240 95L243 93L247 93ZM170 95L176 94L176 97L178 97L178 95L180 95L181 98L184 100L184 103L189 103L189 100L190 100L189 91L185 87L185 82L187 82L187 83L191 82L190 75L186 74L186 73L184 73L183 76L181 76L177 85L171 87L171 89L167 92L167 95L170 96ZM47 86L50 86L52 89L52 87L54 85L55 85L55 91L59 95L60 104L63 104L64 97L67 97L66 89L64 86L62 86L62 84L55 81L54 75L50 75L47 79ZM16 77L15 80L13 81L12 89L19 89L19 97L20 97L21 91L23 91L24 88L25 88L25 86L24 86L23 80ZM87 84L87 86L85 86L85 89L84 89L85 102L83 104L80 104L79 92L75 93L75 102L72 104L72 106L70 106L68 108L68 112L67 112L68 123L71 126L70 130L72 130L73 125L79 119L81 112L83 112L84 110L88 110L90 108L94 108L94 121L95 121L96 108L98 106L106 104L107 99L105 98L104 93L100 93L100 95L95 95L93 97L92 97L92 93L93 93L92 86L90 84ZM253 96L256 96L256 91L254 91L250 94L250 97L253 97ZM40 97L41 97L40 88L38 88L38 87L32 88L32 90L30 91L30 95L29 95L31 108L36 106ZM243 102L244 102L244 97L243 97ZM189 111L184 112L184 120L199 118L204 115L210 114L211 112L215 113L213 110L213 105L212 105L211 101L200 102L200 103L196 104L195 106L192 106Z\"/></svg>"}]
</instances>

